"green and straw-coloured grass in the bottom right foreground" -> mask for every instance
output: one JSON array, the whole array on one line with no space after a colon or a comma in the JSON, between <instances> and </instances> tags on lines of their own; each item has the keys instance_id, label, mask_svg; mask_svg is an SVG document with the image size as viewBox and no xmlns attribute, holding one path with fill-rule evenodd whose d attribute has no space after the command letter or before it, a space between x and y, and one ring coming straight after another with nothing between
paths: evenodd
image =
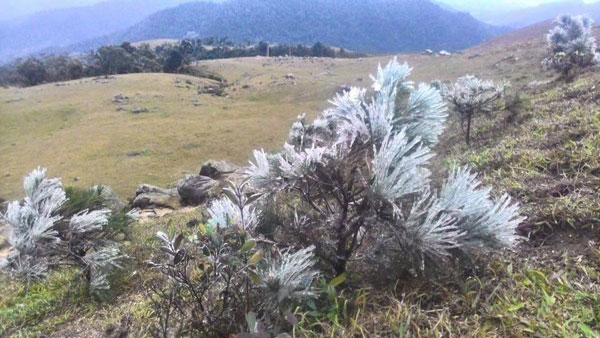
<instances>
[{"instance_id":1,"label":"green and straw-coloured grass in the bottom right foreground","mask_svg":"<svg viewBox=\"0 0 600 338\"><path fill-rule=\"evenodd\" d=\"M546 255L544 252L541 256ZM582 254L584 256L582 256ZM495 257L479 277L404 281L337 295L336 312L298 309L302 337L596 337L600 255Z\"/></svg>"}]
</instances>

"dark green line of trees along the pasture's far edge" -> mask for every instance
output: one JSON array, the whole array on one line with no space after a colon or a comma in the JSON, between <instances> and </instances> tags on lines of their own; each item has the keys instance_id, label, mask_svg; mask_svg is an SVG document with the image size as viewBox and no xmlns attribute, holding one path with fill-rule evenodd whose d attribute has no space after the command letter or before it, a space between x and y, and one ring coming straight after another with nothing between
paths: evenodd
<instances>
[{"instance_id":1,"label":"dark green line of trees along the pasture's far edge","mask_svg":"<svg viewBox=\"0 0 600 338\"><path fill-rule=\"evenodd\" d=\"M312 46L258 44L236 45L227 38L209 37L165 42L156 47L147 43L103 46L87 54L30 56L0 66L0 85L35 86L42 83L76 80L83 77L129 73L185 73L198 75L191 63L200 60L252 56L360 57L363 54L336 50L321 42Z\"/></svg>"}]
</instances>

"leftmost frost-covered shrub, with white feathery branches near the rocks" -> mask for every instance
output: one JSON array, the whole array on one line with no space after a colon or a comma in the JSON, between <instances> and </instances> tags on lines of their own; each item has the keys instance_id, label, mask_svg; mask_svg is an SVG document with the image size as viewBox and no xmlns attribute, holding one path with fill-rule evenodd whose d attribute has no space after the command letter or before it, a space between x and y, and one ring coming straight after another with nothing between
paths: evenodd
<instances>
[{"instance_id":1,"label":"leftmost frost-covered shrub, with white feathery branches near the rocks","mask_svg":"<svg viewBox=\"0 0 600 338\"><path fill-rule=\"evenodd\" d=\"M47 178L46 169L33 170L23 187L25 198L11 202L6 213L0 214L10 227L9 242L14 249L6 267L34 279L54 267L77 266L92 293L108 290L109 276L124 258L105 232L111 211L76 208L69 203L60 179Z\"/></svg>"}]
</instances>

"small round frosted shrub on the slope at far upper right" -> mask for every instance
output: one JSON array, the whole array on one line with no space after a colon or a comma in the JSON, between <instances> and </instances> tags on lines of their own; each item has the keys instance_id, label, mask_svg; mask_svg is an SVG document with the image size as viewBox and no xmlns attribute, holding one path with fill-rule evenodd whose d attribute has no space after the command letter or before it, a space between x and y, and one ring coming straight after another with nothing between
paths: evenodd
<instances>
[{"instance_id":1,"label":"small round frosted shrub on the slope at far upper right","mask_svg":"<svg viewBox=\"0 0 600 338\"><path fill-rule=\"evenodd\" d=\"M544 68L554 68L569 79L578 69L598 64L593 26L594 20L586 16L556 18L547 35L550 55L542 61Z\"/></svg>"}]
</instances>

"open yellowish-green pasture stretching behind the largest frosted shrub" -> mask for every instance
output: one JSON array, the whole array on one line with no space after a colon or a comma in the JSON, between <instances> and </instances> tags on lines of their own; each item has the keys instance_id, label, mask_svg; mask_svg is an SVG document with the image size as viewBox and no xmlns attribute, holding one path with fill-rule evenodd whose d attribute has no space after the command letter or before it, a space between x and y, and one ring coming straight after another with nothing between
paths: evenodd
<instances>
[{"instance_id":1,"label":"open yellowish-green pasture stretching behind the largest frosted shrub","mask_svg":"<svg viewBox=\"0 0 600 338\"><path fill-rule=\"evenodd\" d=\"M404 54L399 59L414 67L414 81L472 73L519 87L546 77L539 67L544 29L534 27L522 37L499 38L450 57ZM0 88L0 198L20 196L21 177L38 165L67 184L108 184L127 197L139 183L172 184L208 159L245 164L252 149L279 146L297 115L326 108L342 84L368 84L368 74L390 58L199 63L228 80L229 97L198 94L197 87L208 80L170 74ZM294 79L285 78L290 73ZM117 94L130 97L129 103L113 103ZM131 113L135 108L149 112Z\"/></svg>"}]
</instances>

